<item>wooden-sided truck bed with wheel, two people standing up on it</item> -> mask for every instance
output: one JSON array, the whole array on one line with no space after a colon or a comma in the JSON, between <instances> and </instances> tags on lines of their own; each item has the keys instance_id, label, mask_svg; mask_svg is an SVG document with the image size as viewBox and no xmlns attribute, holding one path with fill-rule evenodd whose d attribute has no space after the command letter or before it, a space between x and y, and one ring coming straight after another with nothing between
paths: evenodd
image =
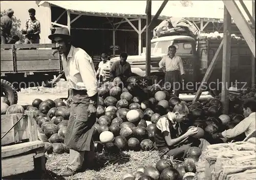
<instances>
[{"instance_id":1,"label":"wooden-sided truck bed with wheel, two people standing up on it","mask_svg":"<svg viewBox=\"0 0 256 180\"><path fill-rule=\"evenodd\" d=\"M1 97L16 104L20 89L47 84L62 72L55 51L55 44L1 44Z\"/></svg>"}]
</instances>

